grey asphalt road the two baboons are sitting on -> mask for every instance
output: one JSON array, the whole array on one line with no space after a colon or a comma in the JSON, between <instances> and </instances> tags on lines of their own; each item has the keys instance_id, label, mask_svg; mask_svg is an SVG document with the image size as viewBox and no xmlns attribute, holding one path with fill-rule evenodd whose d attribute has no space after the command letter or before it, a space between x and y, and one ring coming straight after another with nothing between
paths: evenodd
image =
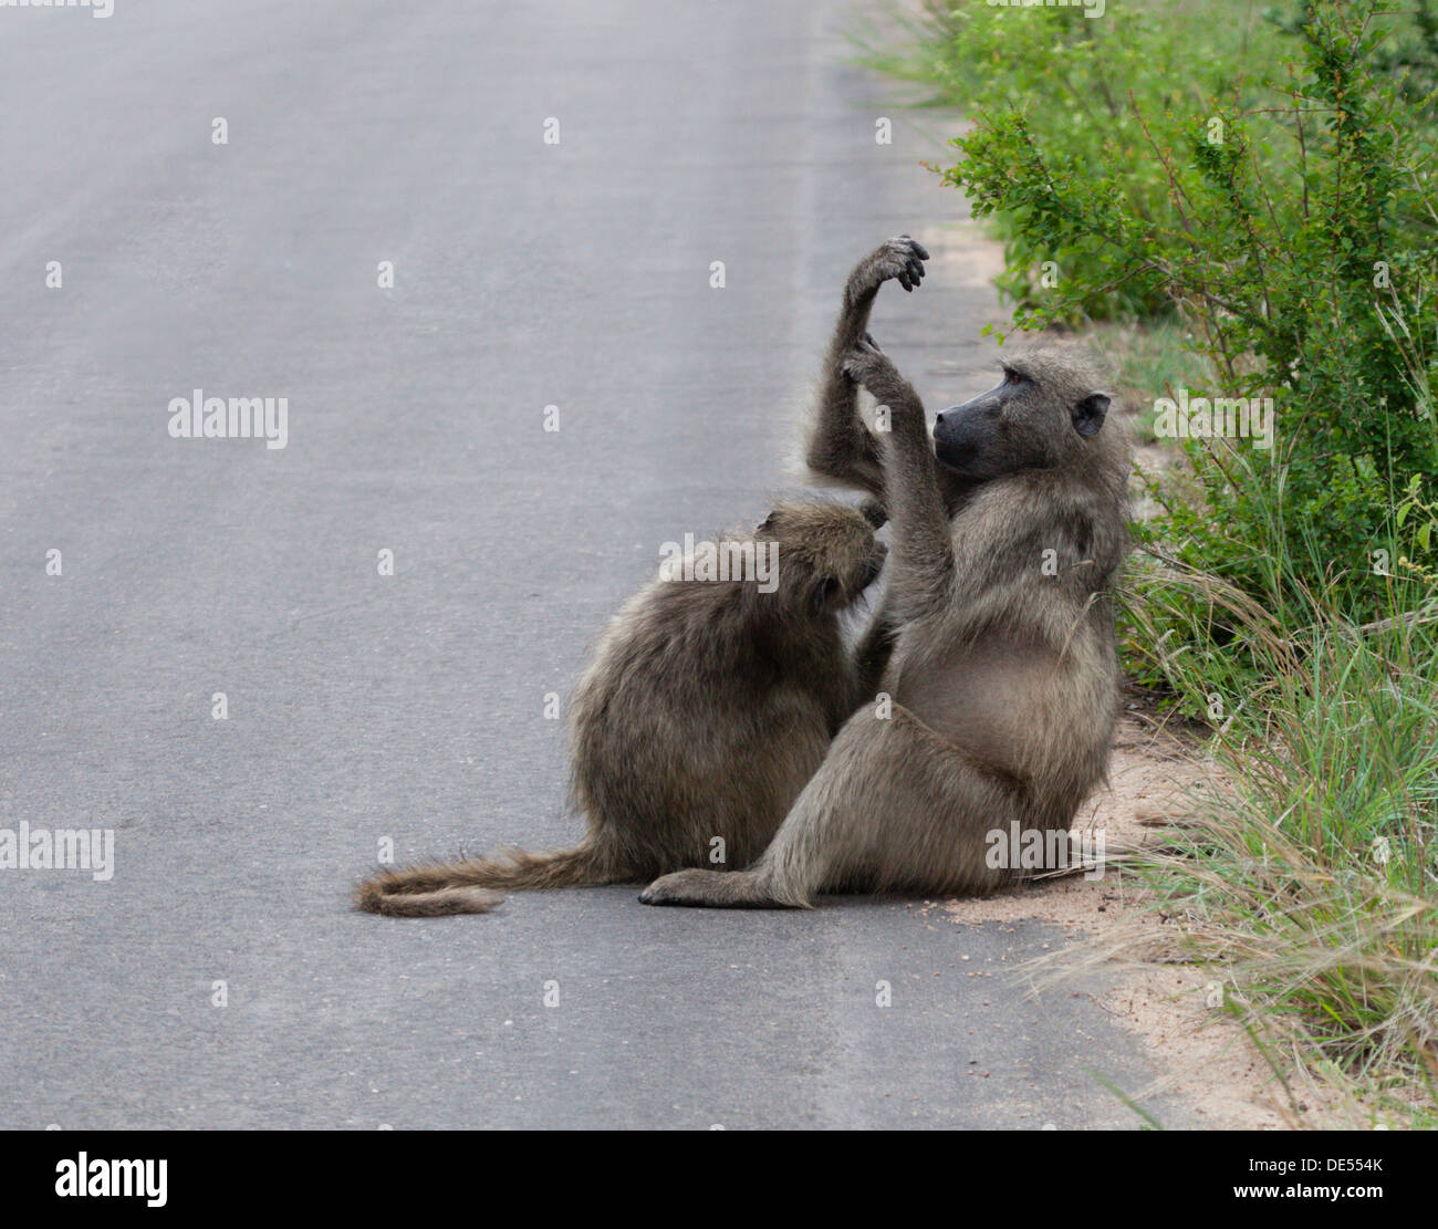
<instances>
[{"instance_id":1,"label":"grey asphalt road the two baboons are sitting on","mask_svg":"<svg viewBox=\"0 0 1438 1229\"><path fill-rule=\"evenodd\" d=\"M0 828L115 839L108 881L0 870L0 1126L1136 1124L1090 1074L1139 1087L1136 1042L1012 972L1055 927L347 904L385 838L580 831L546 696L663 542L792 483L857 256L926 239L876 333L938 404L984 387L940 147L850 24L0 10ZM286 447L173 438L193 390L286 398Z\"/></svg>"}]
</instances>

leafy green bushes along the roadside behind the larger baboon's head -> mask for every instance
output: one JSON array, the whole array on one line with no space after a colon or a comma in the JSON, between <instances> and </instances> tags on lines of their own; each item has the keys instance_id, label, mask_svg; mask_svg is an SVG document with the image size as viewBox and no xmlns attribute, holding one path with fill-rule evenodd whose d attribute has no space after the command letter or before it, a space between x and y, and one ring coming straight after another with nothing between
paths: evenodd
<instances>
[{"instance_id":1,"label":"leafy green bushes along the roadside behind the larger baboon's head","mask_svg":"<svg viewBox=\"0 0 1438 1229\"><path fill-rule=\"evenodd\" d=\"M1182 441L1186 464L1149 482L1166 515L1145 545L1267 597L1281 542L1359 620L1382 605L1402 493L1438 477L1426 20L1378 0L1250 29L1186 6L963 4L935 10L912 69L979 99L943 177L1004 220L1018 326L1178 312L1211 385L1171 397L1273 401L1268 451ZM1165 631L1234 640L1182 612Z\"/></svg>"}]
</instances>

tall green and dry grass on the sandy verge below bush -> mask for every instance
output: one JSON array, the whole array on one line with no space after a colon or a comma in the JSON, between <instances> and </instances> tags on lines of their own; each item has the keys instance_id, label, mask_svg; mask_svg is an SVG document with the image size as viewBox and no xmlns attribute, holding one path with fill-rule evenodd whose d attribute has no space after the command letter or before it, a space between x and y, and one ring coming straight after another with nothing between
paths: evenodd
<instances>
[{"instance_id":1,"label":"tall green and dry grass on the sandy verge below bush","mask_svg":"<svg viewBox=\"0 0 1438 1229\"><path fill-rule=\"evenodd\" d=\"M1277 509L1273 509L1277 513ZM1156 552L1130 591L1136 634L1165 605L1242 643L1224 676L1185 645L1169 684L1202 706L1222 788L1140 857L1195 957L1261 1036L1438 1113L1438 607L1414 569L1376 576L1389 614L1356 624L1339 576L1273 539L1265 597ZM1395 542L1395 553L1401 555ZM1322 578L1322 579L1314 579ZM1142 592L1142 598L1137 594ZM1254 667L1257 667L1254 673ZM1222 681L1215 681L1221 678ZM1229 687L1244 687L1231 691Z\"/></svg>"}]
</instances>

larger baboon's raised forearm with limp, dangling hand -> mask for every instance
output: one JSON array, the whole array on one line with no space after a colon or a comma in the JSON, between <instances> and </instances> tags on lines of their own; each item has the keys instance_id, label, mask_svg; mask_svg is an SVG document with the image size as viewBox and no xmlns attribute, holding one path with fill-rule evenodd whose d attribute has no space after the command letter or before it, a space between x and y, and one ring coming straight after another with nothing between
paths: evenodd
<instances>
[{"instance_id":1,"label":"larger baboon's raised forearm with limp, dangling hand","mask_svg":"<svg viewBox=\"0 0 1438 1229\"><path fill-rule=\"evenodd\" d=\"M879 441L858 414L858 385L844 374L844 358L869 329L879 287L890 277L910 290L923 277L929 253L922 244L900 236L880 244L854 266L844 285L844 303L824 355L818 394L818 415L810 434L808 466L837 482L851 483L879 499L884 497L883 461Z\"/></svg>"}]
</instances>

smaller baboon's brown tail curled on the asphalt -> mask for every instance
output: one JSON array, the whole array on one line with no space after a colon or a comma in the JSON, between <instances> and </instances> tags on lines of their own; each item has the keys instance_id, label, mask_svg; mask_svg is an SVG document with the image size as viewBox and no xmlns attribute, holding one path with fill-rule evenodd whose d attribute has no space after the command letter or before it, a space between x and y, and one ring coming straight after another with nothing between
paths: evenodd
<instances>
[{"instance_id":1,"label":"smaller baboon's brown tail curled on the asphalt","mask_svg":"<svg viewBox=\"0 0 1438 1229\"><path fill-rule=\"evenodd\" d=\"M505 898L505 888L585 887L614 880L610 860L591 844L552 854L505 850L498 858L381 871L355 888L355 904L390 917L489 913Z\"/></svg>"}]
</instances>

